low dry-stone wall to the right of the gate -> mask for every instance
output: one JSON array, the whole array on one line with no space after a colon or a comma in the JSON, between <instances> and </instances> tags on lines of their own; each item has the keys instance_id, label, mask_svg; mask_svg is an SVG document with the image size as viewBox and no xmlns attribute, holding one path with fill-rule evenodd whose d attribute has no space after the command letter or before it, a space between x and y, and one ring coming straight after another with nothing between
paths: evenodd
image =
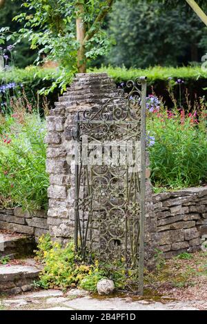
<instances>
[{"instance_id":1,"label":"low dry-stone wall to the right of the gate","mask_svg":"<svg viewBox=\"0 0 207 324\"><path fill-rule=\"evenodd\" d=\"M207 187L153 194L156 239L166 258L195 252L207 236Z\"/></svg>"}]
</instances>

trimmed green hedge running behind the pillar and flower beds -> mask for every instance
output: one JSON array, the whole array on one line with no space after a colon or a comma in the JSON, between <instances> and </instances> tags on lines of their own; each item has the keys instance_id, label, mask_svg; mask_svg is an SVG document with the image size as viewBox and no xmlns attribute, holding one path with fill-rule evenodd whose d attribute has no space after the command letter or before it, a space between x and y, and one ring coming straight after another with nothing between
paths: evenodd
<instances>
[{"instance_id":1,"label":"trimmed green hedge running behind the pillar and flower beds","mask_svg":"<svg viewBox=\"0 0 207 324\"><path fill-rule=\"evenodd\" d=\"M92 69L91 71L107 72L117 85L120 85L121 82L126 83L129 79L134 80L136 77L146 76L148 77L148 92L152 91L151 86L153 86L157 96L164 97L167 105L170 105L170 99L166 90L169 77L172 77L175 81L176 79L183 79L185 81L183 92L188 88L192 101L195 96L203 97L206 94L204 88L207 88L207 73L203 72L200 67L162 68L158 66L146 70L102 67ZM37 99L38 90L49 88L58 76L59 72L55 70L44 70L43 68L33 66L22 70L15 68L12 71L0 73L1 83L22 83L28 99L33 99L34 97ZM48 94L47 97L50 104L53 105L57 101L60 92L61 90L56 88L54 92Z\"/></svg>"}]
</instances>

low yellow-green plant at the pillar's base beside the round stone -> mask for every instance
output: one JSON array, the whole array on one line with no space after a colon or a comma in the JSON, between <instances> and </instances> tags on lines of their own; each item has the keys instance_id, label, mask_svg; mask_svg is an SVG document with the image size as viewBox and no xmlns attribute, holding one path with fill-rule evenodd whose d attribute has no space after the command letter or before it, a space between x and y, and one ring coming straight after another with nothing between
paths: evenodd
<instances>
[{"instance_id":1,"label":"low yellow-green plant at the pillar's base beside the round stone","mask_svg":"<svg viewBox=\"0 0 207 324\"><path fill-rule=\"evenodd\" d=\"M59 243L51 242L48 235L39 239L37 258L44 265L37 285L46 289L59 287L65 290L80 286L94 292L97 282L106 277L97 261L94 265L80 261L73 243L63 248Z\"/></svg>"}]
</instances>

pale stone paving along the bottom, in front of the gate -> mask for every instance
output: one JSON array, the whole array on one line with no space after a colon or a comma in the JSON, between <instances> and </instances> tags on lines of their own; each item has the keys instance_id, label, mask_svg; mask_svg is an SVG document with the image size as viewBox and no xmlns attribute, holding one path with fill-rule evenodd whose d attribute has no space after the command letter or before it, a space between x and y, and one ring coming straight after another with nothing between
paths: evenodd
<instances>
[{"instance_id":1,"label":"pale stone paving along the bottom, in front of the gate","mask_svg":"<svg viewBox=\"0 0 207 324\"><path fill-rule=\"evenodd\" d=\"M1 297L0 310L207 310L206 301L146 301L129 296L90 296L88 292L41 290Z\"/></svg>"}]
</instances>

